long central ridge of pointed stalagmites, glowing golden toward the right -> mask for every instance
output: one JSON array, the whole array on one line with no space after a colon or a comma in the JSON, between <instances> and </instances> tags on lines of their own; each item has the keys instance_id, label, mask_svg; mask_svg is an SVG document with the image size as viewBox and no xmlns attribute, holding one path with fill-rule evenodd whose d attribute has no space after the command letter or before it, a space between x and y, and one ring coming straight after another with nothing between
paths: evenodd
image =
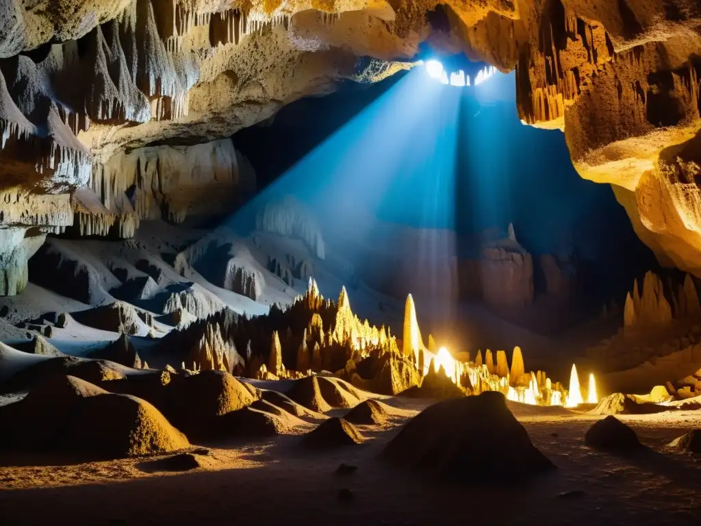
<instances>
[{"instance_id":1,"label":"long central ridge of pointed stalagmites, glowing golden toward the right","mask_svg":"<svg viewBox=\"0 0 701 526\"><path fill-rule=\"evenodd\" d=\"M346 289L334 302L324 299L310 279L304 296L286 311L273 305L266 316L247 318L223 309L173 330L161 340L191 370L222 370L257 379L296 379L332 374L375 393L449 398L501 391L510 400L561 405L567 391L545 372L526 372L516 347L511 365L505 351L478 351L456 360L436 349L433 337L423 345L411 296L405 311L404 339L386 328L360 321L351 311ZM467 354L467 353L463 353ZM496 360L496 361L495 361Z\"/></svg>"}]
</instances>

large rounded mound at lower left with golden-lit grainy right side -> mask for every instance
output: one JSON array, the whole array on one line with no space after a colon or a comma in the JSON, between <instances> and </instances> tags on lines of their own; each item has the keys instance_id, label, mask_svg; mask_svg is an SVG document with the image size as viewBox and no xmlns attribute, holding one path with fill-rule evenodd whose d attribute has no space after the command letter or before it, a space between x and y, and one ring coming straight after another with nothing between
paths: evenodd
<instances>
[{"instance_id":1,"label":"large rounded mound at lower left with golden-lit grainy right side","mask_svg":"<svg viewBox=\"0 0 701 526\"><path fill-rule=\"evenodd\" d=\"M64 450L110 458L168 453L190 445L146 400L111 393L80 400L62 435Z\"/></svg>"}]
</instances>

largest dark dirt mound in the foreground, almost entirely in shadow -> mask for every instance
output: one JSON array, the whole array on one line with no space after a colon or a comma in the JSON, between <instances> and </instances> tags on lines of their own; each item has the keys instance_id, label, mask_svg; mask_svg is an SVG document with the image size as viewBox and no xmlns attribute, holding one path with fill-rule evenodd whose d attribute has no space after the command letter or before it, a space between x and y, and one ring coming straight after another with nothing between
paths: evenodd
<instances>
[{"instance_id":1,"label":"largest dark dirt mound in the foreground, almost entirely in shadow","mask_svg":"<svg viewBox=\"0 0 701 526\"><path fill-rule=\"evenodd\" d=\"M505 485L554 468L498 392L444 400L411 419L383 455L438 478Z\"/></svg>"}]
</instances>

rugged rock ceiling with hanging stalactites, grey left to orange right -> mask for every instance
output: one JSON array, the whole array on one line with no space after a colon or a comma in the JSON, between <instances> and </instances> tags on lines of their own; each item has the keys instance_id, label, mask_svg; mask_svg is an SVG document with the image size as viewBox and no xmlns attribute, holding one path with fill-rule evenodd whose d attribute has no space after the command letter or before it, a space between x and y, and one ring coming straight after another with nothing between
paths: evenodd
<instances>
[{"instance_id":1,"label":"rugged rock ceiling with hanging stalactites, grey left to orange right","mask_svg":"<svg viewBox=\"0 0 701 526\"><path fill-rule=\"evenodd\" d=\"M47 232L128 236L197 213L212 181L250 182L221 139L341 79L381 79L423 41L516 69L524 122L564 130L580 175L613 184L662 262L701 276L699 1L1 4L1 293L21 290Z\"/></svg>"}]
</instances>

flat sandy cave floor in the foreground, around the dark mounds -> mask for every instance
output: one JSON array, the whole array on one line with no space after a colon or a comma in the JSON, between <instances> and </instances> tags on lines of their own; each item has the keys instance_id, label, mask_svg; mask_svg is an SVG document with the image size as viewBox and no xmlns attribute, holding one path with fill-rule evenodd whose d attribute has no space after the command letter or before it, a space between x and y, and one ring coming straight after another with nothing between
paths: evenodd
<instances>
[{"instance_id":1,"label":"flat sandy cave floor in the foreground, around the dark mounds","mask_svg":"<svg viewBox=\"0 0 701 526\"><path fill-rule=\"evenodd\" d=\"M39 524L564 524L691 525L701 510L701 457L665 444L701 427L701 412L622 416L648 449L630 457L591 450L594 417L560 407L510 403L533 443L558 469L528 485L471 489L437 485L390 468L383 445L426 400L385 400L404 413L368 440L334 452L302 452L299 435L206 446L203 466L154 473L151 459L80 462L0 456L0 522ZM310 424L310 429L311 429ZM297 433L304 433L297 429ZM475 455L479 451L474 452ZM334 471L344 462L355 473ZM479 480L480 473L465 473ZM348 488L353 499L338 492Z\"/></svg>"}]
</instances>

